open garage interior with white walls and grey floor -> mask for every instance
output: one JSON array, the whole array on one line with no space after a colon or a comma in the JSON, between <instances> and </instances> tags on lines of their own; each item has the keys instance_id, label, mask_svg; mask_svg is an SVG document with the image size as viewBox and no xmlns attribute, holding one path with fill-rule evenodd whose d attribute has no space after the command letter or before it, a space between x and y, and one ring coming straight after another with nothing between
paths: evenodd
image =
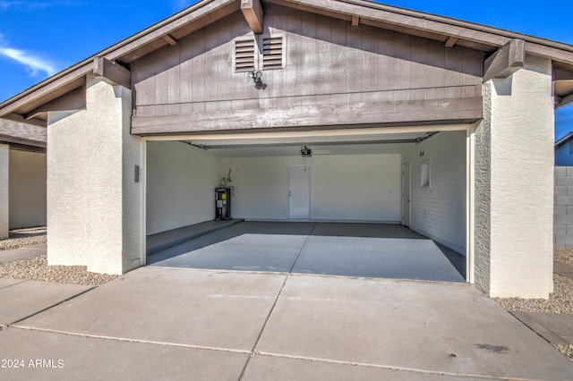
<instances>
[{"instance_id":1,"label":"open garage interior with white walls and grey floor","mask_svg":"<svg viewBox=\"0 0 573 381\"><path fill-rule=\"evenodd\" d=\"M148 140L147 235L148 240L150 236L166 237L164 244L155 248L159 250L148 247L148 264L297 271L289 259L292 256L281 257L280 241L274 249L270 244L267 247L268 253L276 254L270 257L276 258L241 257L237 249L238 257L230 261L227 258L233 257L232 253L222 254L225 242L239 240L236 249L245 243L240 240L251 236L249 250L256 251L261 249L257 242L269 236L284 240L290 235L287 241L292 242L306 239L311 235L309 229L316 229L312 235L323 241L295 250L302 254L296 266L309 262L301 272L459 281L463 279L459 274L445 271L440 275L440 268L453 268L447 263L450 258L458 272L466 275L466 129L466 125L449 125L412 131L387 128L313 131L308 136L283 132ZM187 243L184 235L167 238L169 232L182 231L184 226L214 220L215 189L219 187L228 189L233 220L259 224L231 228L242 232L236 234L243 238L232 232ZM277 228L281 222L283 227ZM433 241L442 250L433 242L432 247L415 246L420 239ZM177 247L168 248L170 240ZM318 258L324 253L306 257L312 244L318 245L315 250L339 252L340 257L322 258L320 268ZM423 257L428 248L429 254ZM359 258L363 263L357 262ZM313 261L316 263L311 264ZM433 269L432 264L437 267ZM389 266L394 270L382 271Z\"/></svg>"}]
</instances>

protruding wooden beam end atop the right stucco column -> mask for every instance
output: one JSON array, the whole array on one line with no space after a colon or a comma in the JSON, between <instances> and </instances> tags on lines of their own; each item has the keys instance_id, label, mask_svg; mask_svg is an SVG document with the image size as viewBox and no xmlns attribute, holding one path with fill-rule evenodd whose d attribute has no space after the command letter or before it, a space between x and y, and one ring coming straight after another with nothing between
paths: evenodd
<instances>
[{"instance_id":1,"label":"protruding wooden beam end atop the right stucco column","mask_svg":"<svg viewBox=\"0 0 573 381\"><path fill-rule=\"evenodd\" d=\"M483 82L507 78L524 66L526 61L526 41L513 38L500 47L483 63Z\"/></svg>"}]
</instances>

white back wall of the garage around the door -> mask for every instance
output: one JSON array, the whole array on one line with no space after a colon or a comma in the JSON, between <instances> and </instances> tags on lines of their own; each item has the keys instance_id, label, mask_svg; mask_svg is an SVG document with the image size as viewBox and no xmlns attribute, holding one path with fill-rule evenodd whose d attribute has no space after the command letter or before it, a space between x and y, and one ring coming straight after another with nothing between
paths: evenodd
<instances>
[{"instance_id":1,"label":"white back wall of the garage around the door","mask_svg":"<svg viewBox=\"0 0 573 381\"><path fill-rule=\"evenodd\" d=\"M232 168L232 215L288 219L288 165L311 165L311 219L382 221L400 219L400 156L315 155L222 158L219 176Z\"/></svg>"}]
</instances>

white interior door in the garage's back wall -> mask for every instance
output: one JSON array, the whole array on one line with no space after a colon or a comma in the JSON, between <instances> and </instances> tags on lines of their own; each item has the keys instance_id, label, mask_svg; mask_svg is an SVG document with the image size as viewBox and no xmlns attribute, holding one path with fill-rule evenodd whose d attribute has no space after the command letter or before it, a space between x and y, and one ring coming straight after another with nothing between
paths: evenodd
<instances>
[{"instance_id":1,"label":"white interior door in the garage's back wall","mask_svg":"<svg viewBox=\"0 0 573 381\"><path fill-rule=\"evenodd\" d=\"M308 219L311 209L310 165L288 166L288 218Z\"/></svg>"}]
</instances>

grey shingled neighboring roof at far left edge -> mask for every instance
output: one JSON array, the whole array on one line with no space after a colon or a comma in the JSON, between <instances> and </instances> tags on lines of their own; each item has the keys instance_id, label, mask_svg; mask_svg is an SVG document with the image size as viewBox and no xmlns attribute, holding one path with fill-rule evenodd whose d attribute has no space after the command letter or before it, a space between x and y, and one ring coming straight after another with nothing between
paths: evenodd
<instances>
[{"instance_id":1,"label":"grey shingled neighboring roof at far left edge","mask_svg":"<svg viewBox=\"0 0 573 381\"><path fill-rule=\"evenodd\" d=\"M0 119L0 144L33 152L46 152L47 131L28 123Z\"/></svg>"}]
</instances>

